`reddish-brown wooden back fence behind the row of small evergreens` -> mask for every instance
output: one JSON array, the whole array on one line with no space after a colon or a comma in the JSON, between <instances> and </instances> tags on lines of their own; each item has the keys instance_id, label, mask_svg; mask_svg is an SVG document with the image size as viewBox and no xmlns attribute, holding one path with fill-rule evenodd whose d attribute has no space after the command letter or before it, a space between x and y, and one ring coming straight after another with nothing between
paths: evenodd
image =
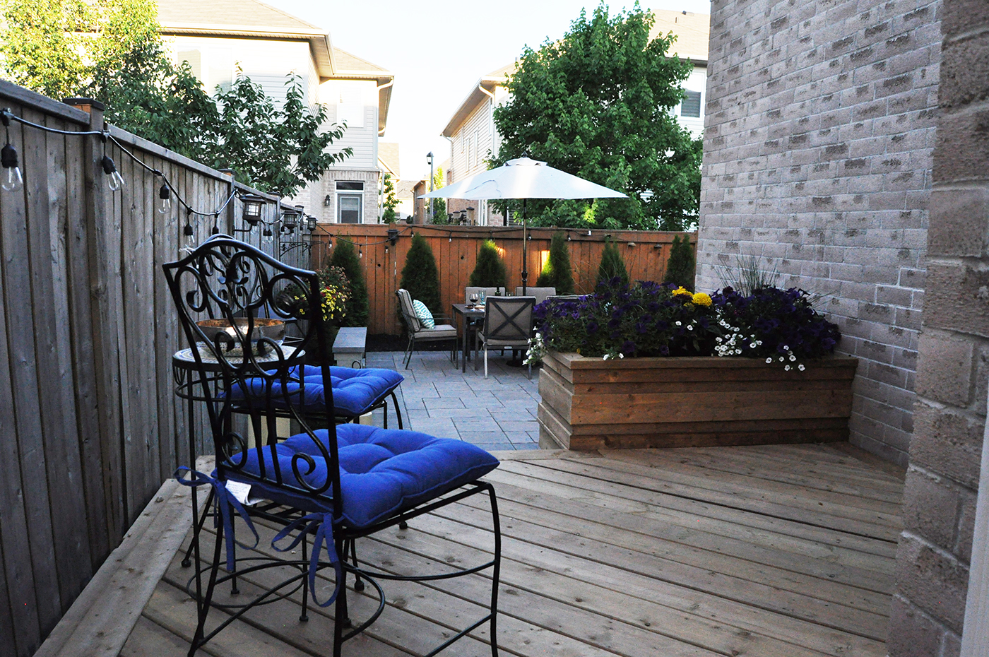
<instances>
[{"instance_id":1,"label":"reddish-brown wooden back fence behind the row of small evergreens","mask_svg":"<svg viewBox=\"0 0 989 657\"><path fill-rule=\"evenodd\" d=\"M392 245L388 239L389 228L400 233ZM604 240L610 238L618 246L625 266L633 280L662 281L666 273L670 246L676 233L658 231L590 231L578 229L529 229L531 239L526 246L528 284L534 286L539 272L549 255L550 240L554 233L563 231L570 237L570 261L573 267L577 291L591 292L601 261ZM411 243L412 233L425 237L439 270L440 303L443 313L449 315L450 305L463 303L464 288L477 262L478 247L485 239L494 238L508 270L508 286L522 284L522 227L456 227L456 226L408 226L323 224L314 235L324 242L336 243L339 238L354 243L361 255L369 297L368 332L397 335L402 332L402 321L397 315L395 291L402 282L405 255ZM695 235L689 235L696 247ZM325 254L332 253L332 246L313 249L313 266L323 263Z\"/></svg>"}]
</instances>

